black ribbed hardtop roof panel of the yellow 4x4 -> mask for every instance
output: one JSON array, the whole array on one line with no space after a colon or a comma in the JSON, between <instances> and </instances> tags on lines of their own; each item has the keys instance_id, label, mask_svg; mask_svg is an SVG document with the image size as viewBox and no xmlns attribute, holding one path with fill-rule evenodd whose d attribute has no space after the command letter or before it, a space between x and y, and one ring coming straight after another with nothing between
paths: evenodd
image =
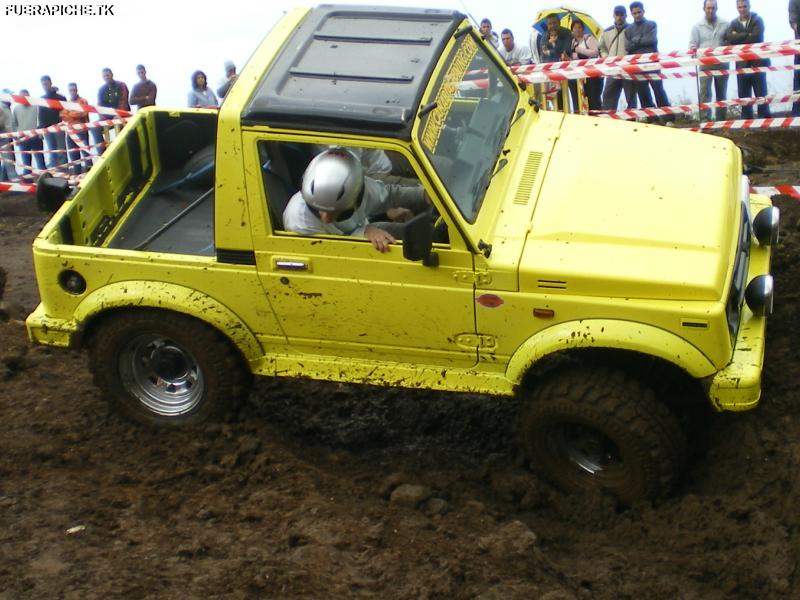
<instances>
[{"instance_id":1,"label":"black ribbed hardtop roof panel of the yellow 4x4","mask_svg":"<svg viewBox=\"0 0 800 600\"><path fill-rule=\"evenodd\" d=\"M463 19L436 9L318 6L262 77L242 122L408 139L436 59Z\"/></svg>"}]
</instances>

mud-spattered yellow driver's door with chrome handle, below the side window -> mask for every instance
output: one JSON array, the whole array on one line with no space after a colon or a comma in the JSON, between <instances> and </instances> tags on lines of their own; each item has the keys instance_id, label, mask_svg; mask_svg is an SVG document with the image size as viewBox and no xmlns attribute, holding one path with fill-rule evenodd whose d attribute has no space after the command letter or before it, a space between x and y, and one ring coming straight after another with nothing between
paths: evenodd
<instances>
[{"instance_id":1,"label":"mud-spattered yellow driver's door with chrome handle, below the side window","mask_svg":"<svg viewBox=\"0 0 800 600\"><path fill-rule=\"evenodd\" d=\"M284 193L272 187L273 196ZM460 239L437 244L439 266L426 267L406 260L399 243L380 253L361 237L273 230L267 202L285 202L270 191L256 177L248 183L251 197L264 198L265 235L254 240L259 276L291 353L477 363L473 257Z\"/></svg>"}]
</instances>

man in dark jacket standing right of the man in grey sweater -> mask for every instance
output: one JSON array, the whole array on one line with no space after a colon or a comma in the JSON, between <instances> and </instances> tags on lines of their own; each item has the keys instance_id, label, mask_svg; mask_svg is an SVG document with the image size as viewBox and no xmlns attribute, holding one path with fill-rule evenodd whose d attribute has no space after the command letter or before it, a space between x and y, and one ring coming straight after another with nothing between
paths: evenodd
<instances>
[{"instance_id":1,"label":"man in dark jacket standing right of the man in grey sweater","mask_svg":"<svg viewBox=\"0 0 800 600\"><path fill-rule=\"evenodd\" d=\"M725 38L726 42L728 44L759 44L763 42L764 21L756 13L750 11L750 0L736 0L736 10L739 11L739 16L731 21ZM769 59L738 61L736 68L767 67L770 64ZM763 98L767 95L766 73L737 75L736 84L739 98L750 98L752 95L755 95L756 98ZM759 118L766 119L770 115L769 104L758 105ZM753 118L752 106L742 107L742 118Z\"/></svg>"}]
</instances>

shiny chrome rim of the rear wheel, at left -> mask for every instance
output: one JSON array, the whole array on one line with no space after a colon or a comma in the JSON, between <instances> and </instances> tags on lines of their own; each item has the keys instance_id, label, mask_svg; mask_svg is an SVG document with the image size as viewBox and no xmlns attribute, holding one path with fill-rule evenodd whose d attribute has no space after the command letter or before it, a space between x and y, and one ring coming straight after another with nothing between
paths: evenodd
<instances>
[{"instance_id":1,"label":"shiny chrome rim of the rear wheel, at left","mask_svg":"<svg viewBox=\"0 0 800 600\"><path fill-rule=\"evenodd\" d=\"M170 338L136 336L120 352L118 364L127 391L157 415L182 415L202 400L205 384L200 365Z\"/></svg>"}]
</instances>

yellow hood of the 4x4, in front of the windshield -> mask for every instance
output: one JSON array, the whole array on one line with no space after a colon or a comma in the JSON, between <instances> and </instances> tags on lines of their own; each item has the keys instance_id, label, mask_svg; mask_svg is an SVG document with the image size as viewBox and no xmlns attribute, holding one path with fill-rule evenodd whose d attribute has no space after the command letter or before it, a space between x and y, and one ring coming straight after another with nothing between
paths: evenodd
<instances>
[{"instance_id":1,"label":"yellow hood of the 4x4, in front of the windshield","mask_svg":"<svg viewBox=\"0 0 800 600\"><path fill-rule=\"evenodd\" d=\"M718 300L734 253L741 154L729 140L567 116L520 264L521 290Z\"/></svg>"}]
</instances>

